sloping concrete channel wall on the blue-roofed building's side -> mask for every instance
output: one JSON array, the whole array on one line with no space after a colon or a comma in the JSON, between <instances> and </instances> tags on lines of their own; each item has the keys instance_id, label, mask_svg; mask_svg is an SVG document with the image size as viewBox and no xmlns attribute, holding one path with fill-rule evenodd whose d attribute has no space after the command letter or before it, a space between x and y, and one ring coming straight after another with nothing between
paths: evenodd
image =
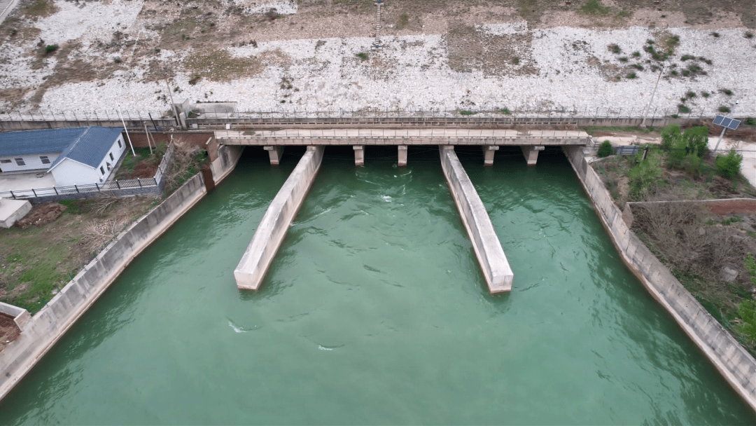
<instances>
[{"instance_id":1,"label":"sloping concrete channel wall on the blue-roofed building's side","mask_svg":"<svg viewBox=\"0 0 756 426\"><path fill-rule=\"evenodd\" d=\"M216 169L220 182L236 166L241 150L223 147ZM225 153L221 154L221 153ZM121 232L107 244L94 260L88 263L39 313L31 319L17 322L20 336L0 352L0 400L42 359L57 340L103 294L120 273L156 238L206 194L201 173L178 188L170 197ZM28 315L28 314L27 314Z\"/></svg>"}]
</instances>

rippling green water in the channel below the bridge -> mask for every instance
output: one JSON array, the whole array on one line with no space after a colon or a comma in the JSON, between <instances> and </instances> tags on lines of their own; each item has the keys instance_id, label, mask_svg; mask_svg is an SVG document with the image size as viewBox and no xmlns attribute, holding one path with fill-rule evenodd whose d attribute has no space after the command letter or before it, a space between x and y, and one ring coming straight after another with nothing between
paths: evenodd
<instances>
[{"instance_id":1,"label":"rippling green water in the channel below the bridge","mask_svg":"<svg viewBox=\"0 0 756 426\"><path fill-rule=\"evenodd\" d=\"M0 402L0 424L754 424L624 268L563 156L460 152L515 273L492 297L438 151L327 150L258 293L233 269L297 155L236 171Z\"/></svg>"}]
</instances>

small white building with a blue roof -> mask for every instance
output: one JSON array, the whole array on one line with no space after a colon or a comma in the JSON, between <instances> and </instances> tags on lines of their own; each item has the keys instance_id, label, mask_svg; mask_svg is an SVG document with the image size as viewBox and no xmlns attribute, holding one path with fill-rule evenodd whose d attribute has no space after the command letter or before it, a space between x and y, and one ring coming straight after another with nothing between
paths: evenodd
<instances>
[{"instance_id":1,"label":"small white building with a blue roof","mask_svg":"<svg viewBox=\"0 0 756 426\"><path fill-rule=\"evenodd\" d=\"M105 182L125 149L119 128L0 133L0 172L51 173L58 186Z\"/></svg>"}]
</instances>

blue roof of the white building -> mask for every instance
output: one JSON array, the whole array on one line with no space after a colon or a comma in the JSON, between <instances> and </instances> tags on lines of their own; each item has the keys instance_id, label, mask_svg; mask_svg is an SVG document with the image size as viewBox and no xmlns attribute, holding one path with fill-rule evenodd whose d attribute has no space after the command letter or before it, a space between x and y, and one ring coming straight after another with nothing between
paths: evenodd
<instances>
[{"instance_id":1,"label":"blue roof of the white building","mask_svg":"<svg viewBox=\"0 0 756 426\"><path fill-rule=\"evenodd\" d=\"M120 128L110 127L0 133L0 157L60 152L50 169L66 158L97 167L120 134Z\"/></svg>"}]
</instances>

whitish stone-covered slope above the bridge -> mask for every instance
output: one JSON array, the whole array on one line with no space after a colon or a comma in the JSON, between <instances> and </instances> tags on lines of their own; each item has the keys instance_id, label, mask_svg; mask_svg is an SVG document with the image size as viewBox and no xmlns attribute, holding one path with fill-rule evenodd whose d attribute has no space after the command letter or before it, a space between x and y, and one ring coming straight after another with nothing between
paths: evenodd
<instances>
[{"instance_id":1,"label":"whitish stone-covered slope above the bridge","mask_svg":"<svg viewBox=\"0 0 756 426\"><path fill-rule=\"evenodd\" d=\"M136 20L142 2L113 0L107 5L59 1L60 12L35 23L45 43L63 43L79 40L79 55L97 55L91 48L95 41L110 42L118 30L132 38L153 39L152 30L140 26ZM246 5L249 6L248 3ZM295 13L296 2L268 2L251 5L260 11L274 7L278 13ZM78 23L72 25L71 23ZM639 115L649 103L658 72L649 70L643 52L647 39L655 30L646 27L624 29L587 29L552 27L528 30L526 23L488 24L476 26L483 39L529 33L532 42L523 47L534 71L530 74L513 72L492 73L473 70L457 73L448 66L446 36L384 36L383 48L371 49L370 37L350 39L299 39L259 42L258 46L228 47L234 57L251 58L265 51L280 51L290 58L290 65L270 64L262 73L250 78L229 82L200 80L190 85L191 70L180 70L172 86L178 86L175 101L235 101L239 110L493 110L507 107L518 113L528 111L559 110L578 115L626 115L633 111ZM756 42L745 39L744 30L718 30L720 37L711 36L709 30L671 28L670 33L680 36L674 58L668 61L665 76L658 83L649 113L666 115L677 112L680 97L686 92L709 92L686 106L692 113L712 115L720 106L731 106L739 99L738 115L756 115ZM0 46L0 89L37 86L45 76L51 76L55 60L45 60L38 70L30 67L22 57L25 48L33 47L37 40L26 45ZM621 46L622 54L613 54L607 45ZM128 56L131 48L125 49ZM484 46L485 51L485 46ZM633 51L640 51L642 61L624 64L618 61ZM160 57L180 61L192 53L163 49ZM367 61L355 56L369 55ZM484 54L488 54L485 51ZM518 53L519 54L519 53ZM677 70L690 64L680 61L680 55L692 54L712 61L711 65L699 61L705 76L670 77L669 63ZM643 71L633 70L628 64L637 62ZM128 71L114 73L109 79L64 83L45 92L39 107L42 110L153 110L169 109L166 101L159 100L164 83L141 81L147 71L147 58L134 58ZM637 73L636 79L627 79L627 73ZM620 81L612 81L621 76ZM282 89L281 80L287 78L292 89ZM284 87L286 85L283 85ZM730 89L732 97L720 93ZM33 92L31 92L33 93ZM27 98L31 96L27 95ZM157 94L157 95L156 95ZM8 107L0 100L0 109Z\"/></svg>"}]
</instances>

